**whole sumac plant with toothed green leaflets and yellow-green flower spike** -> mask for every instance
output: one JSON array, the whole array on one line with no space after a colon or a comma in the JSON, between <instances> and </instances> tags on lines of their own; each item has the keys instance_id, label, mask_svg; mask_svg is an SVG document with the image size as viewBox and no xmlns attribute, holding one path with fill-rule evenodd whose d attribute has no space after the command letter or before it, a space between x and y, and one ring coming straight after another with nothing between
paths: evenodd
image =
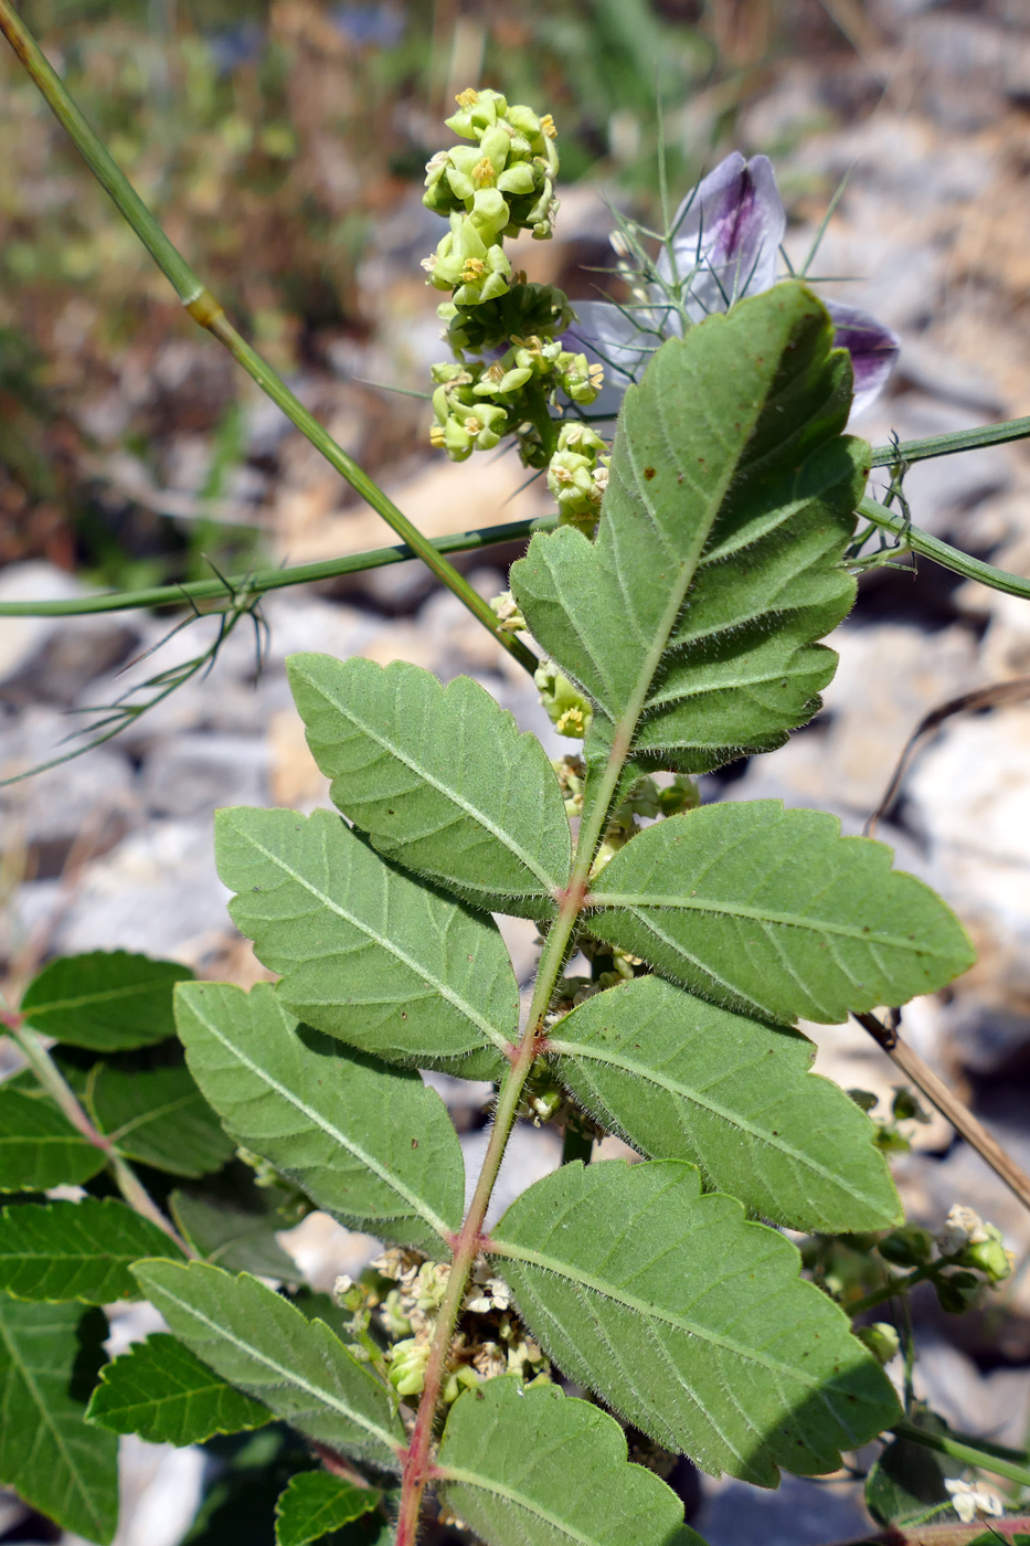
<instances>
[{"instance_id":1,"label":"whole sumac plant with toothed green leaflets and yellow-green flower spike","mask_svg":"<svg viewBox=\"0 0 1030 1546\"><path fill-rule=\"evenodd\" d=\"M470 148L427 190L456 351L435 438L461 459L512 434L549 470L561 524L496 614L546 652L582 748L552 762L469 677L295 656L336 809L217 822L275 985L99 954L8 1016L29 1068L0 1093L0 1189L22 1194L0 1215L0 1478L94 1541L116 1433L257 1430L223 1441L220 1506L274 1483L280 1546L413 1546L438 1510L487 1546L688 1546L676 1456L775 1487L902 1421L877 1357L897 1340L852 1334L865 1288L827 1266L834 1237L883 1243L872 1288L885 1263L959 1299L1008 1271L979 1220L939 1257L900 1228L883 1130L796 1028L942 988L973 959L962 926L835 818L694 784L783 745L834 674L820 640L854 601L871 467L834 320L789 280L697 322L671 269L679 325L609 447L568 301L501 246L551 230L554 125L466 93L452 127ZM523 1008L498 914L540 929ZM496 1087L467 1206L419 1070ZM493 1221L520 1116L558 1125L568 1163ZM606 1133L634 1163L591 1163ZM42 1195L59 1184L79 1200ZM275 1240L312 1207L385 1246L333 1299ZM786 1229L817 1240L807 1275ZM167 1331L101 1368L119 1297Z\"/></svg>"}]
</instances>

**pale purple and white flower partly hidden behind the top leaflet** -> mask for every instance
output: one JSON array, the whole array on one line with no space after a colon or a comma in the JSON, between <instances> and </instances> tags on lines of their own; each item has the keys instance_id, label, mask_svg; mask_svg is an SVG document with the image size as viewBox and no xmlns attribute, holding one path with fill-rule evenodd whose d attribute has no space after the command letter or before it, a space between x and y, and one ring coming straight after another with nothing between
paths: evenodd
<instances>
[{"instance_id":1,"label":"pale purple and white flower partly hidden behind the top leaflet","mask_svg":"<svg viewBox=\"0 0 1030 1546\"><path fill-rule=\"evenodd\" d=\"M650 284L634 309L612 301L578 301L566 346L605 366L605 385L594 411L619 411L622 394L660 343L682 334L684 318L701 322L728 311L745 295L776 283L779 243L787 216L767 156L735 150L684 199ZM670 250L671 249L671 250ZM834 343L851 352L855 376L852 414L878 397L888 382L900 339L868 311L826 301Z\"/></svg>"}]
</instances>

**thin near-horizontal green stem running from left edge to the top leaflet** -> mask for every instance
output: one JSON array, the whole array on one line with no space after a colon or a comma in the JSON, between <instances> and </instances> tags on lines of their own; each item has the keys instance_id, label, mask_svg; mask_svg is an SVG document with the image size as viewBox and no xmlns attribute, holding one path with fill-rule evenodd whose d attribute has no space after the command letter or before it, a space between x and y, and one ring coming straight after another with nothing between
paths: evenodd
<instances>
[{"instance_id":1,"label":"thin near-horizontal green stem running from left edge to the top leaflet","mask_svg":"<svg viewBox=\"0 0 1030 1546\"><path fill-rule=\"evenodd\" d=\"M532 536L534 532L552 532L557 524L557 516L507 521L504 526L481 526L472 532L438 536L431 540L431 546L441 553L467 553L500 543L518 543L524 536ZM179 606L182 601L221 600L226 606L232 606L232 594L264 595L266 591L283 591L294 584L314 584L320 580L336 580L340 575L402 564L414 557L416 553L407 543L397 543L396 547L373 547L365 553L328 558L317 564L295 564L292 569L255 569L244 575L229 575L226 580L159 584L145 591L110 591L67 601L0 601L0 617L85 617L93 612L131 612L145 606ZM212 608L210 611L220 609Z\"/></svg>"}]
</instances>

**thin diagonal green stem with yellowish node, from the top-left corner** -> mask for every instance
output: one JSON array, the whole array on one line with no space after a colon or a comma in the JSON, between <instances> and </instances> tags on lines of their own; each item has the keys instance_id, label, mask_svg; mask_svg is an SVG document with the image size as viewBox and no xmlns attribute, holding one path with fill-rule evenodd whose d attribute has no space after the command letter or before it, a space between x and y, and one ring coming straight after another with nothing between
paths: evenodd
<instances>
[{"instance_id":1,"label":"thin diagonal green stem with yellowish node, from the top-left corner","mask_svg":"<svg viewBox=\"0 0 1030 1546\"><path fill-rule=\"evenodd\" d=\"M286 417L302 434L322 451L325 459L350 485L368 501L388 526L408 544L411 552L469 608L484 628L487 628L530 674L538 662L530 649L510 634L501 634L496 628L496 617L487 601L478 595L464 575L448 564L441 552L418 530L416 526L396 507L384 490L336 444L333 436L319 424L314 414L308 413L303 404L294 396L286 382L268 365L261 356L237 332L224 311L201 283L186 258L169 241L161 226L145 207L125 173L116 165L110 153L87 124L85 117L71 100L60 76L51 66L39 43L25 26L11 0L0 0L0 31L11 48L25 65L28 74L39 87L48 105L67 130L74 147L85 159L90 170L107 189L114 204L147 247L158 267L172 283L176 295L189 311L193 322L207 328L220 343L223 343L234 360L243 366L247 376L257 382L263 393L281 408Z\"/></svg>"}]
</instances>

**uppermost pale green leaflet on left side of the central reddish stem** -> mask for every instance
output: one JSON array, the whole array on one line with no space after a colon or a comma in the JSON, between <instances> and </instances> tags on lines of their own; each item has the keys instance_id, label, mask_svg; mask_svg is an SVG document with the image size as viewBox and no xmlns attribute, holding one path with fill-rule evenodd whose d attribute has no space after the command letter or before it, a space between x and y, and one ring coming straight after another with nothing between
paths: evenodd
<instances>
[{"instance_id":1,"label":"uppermost pale green leaflet on left side of the central reddish stem","mask_svg":"<svg viewBox=\"0 0 1030 1546\"><path fill-rule=\"evenodd\" d=\"M292 656L289 683L333 801L387 858L473 906L547 918L572 843L544 748L470 677Z\"/></svg>"}]
</instances>

